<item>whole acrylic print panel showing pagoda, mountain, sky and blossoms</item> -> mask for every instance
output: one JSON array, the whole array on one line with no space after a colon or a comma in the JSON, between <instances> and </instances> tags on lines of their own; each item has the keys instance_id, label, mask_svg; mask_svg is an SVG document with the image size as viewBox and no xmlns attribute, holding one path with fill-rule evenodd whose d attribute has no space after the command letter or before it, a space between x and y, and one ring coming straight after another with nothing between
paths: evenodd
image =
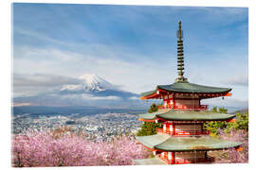
<instances>
[{"instance_id":1,"label":"whole acrylic print panel showing pagoda, mountain, sky and blossoms","mask_svg":"<svg viewBox=\"0 0 256 170\"><path fill-rule=\"evenodd\" d=\"M12 17L12 166L248 161L247 8L14 3Z\"/></svg>"}]
</instances>

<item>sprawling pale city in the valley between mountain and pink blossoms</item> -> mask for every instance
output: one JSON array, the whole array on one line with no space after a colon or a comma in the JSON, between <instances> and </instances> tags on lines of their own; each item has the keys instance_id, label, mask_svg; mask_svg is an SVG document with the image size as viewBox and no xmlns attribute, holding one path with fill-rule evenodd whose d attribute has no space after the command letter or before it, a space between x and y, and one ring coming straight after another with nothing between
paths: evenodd
<instances>
[{"instance_id":1,"label":"sprawling pale city in the valley between mountain and pink blossoms","mask_svg":"<svg viewBox=\"0 0 256 170\"><path fill-rule=\"evenodd\" d=\"M71 127L75 133L82 132L86 138L92 141L108 141L115 136L136 134L142 124L137 120L137 114L141 110L114 112L98 111L95 114L88 113L21 113L21 109L13 111L12 133L22 134L27 130L54 130L59 127ZM17 113L18 112L18 113Z\"/></svg>"}]
</instances>

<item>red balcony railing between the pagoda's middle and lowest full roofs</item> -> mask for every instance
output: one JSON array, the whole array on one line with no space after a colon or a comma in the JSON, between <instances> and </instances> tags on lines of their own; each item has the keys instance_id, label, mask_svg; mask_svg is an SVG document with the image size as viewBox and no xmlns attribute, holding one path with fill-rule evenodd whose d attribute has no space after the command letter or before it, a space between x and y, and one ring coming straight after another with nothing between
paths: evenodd
<instances>
[{"instance_id":1,"label":"red balcony railing between the pagoda's middle and lowest full roofs","mask_svg":"<svg viewBox=\"0 0 256 170\"><path fill-rule=\"evenodd\" d=\"M163 128L156 128L157 132L172 135L172 131L163 130ZM174 136L190 136L190 135L209 135L209 130L177 130L174 131Z\"/></svg>"}]
</instances>

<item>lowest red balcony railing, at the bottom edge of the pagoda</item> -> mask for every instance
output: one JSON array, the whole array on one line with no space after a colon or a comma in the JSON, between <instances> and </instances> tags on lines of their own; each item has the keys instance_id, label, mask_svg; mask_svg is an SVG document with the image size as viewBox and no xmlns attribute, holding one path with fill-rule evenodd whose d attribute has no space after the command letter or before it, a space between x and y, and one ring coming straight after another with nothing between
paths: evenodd
<instances>
[{"instance_id":1,"label":"lowest red balcony railing, at the bottom edge of the pagoda","mask_svg":"<svg viewBox=\"0 0 256 170\"><path fill-rule=\"evenodd\" d=\"M214 161L214 158L210 156L207 156L206 158L175 159L172 161L162 157L160 157L160 159L168 164L202 163Z\"/></svg>"}]
</instances>

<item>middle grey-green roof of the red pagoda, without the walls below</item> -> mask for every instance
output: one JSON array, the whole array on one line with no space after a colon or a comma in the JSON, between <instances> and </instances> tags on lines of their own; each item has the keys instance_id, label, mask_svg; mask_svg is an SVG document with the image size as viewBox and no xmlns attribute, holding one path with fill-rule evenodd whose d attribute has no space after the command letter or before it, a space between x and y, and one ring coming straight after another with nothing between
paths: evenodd
<instances>
[{"instance_id":1,"label":"middle grey-green roof of the red pagoda, without the walls below","mask_svg":"<svg viewBox=\"0 0 256 170\"><path fill-rule=\"evenodd\" d=\"M234 114L212 112L209 110L168 110L138 114L144 120L162 118L167 121L226 121L235 117Z\"/></svg>"}]
</instances>

